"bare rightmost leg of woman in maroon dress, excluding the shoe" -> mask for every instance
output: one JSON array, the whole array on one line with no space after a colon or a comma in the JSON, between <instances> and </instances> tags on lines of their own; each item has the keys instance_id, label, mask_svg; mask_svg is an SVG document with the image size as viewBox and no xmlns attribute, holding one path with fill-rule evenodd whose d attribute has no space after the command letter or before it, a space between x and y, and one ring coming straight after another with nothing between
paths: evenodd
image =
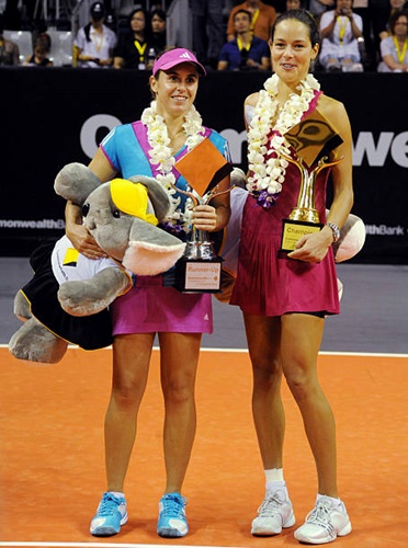
<instances>
[{"instance_id":1,"label":"bare rightmost leg of woman in maroon dress, excluding the shoe","mask_svg":"<svg viewBox=\"0 0 408 548\"><path fill-rule=\"evenodd\" d=\"M299 407L316 461L318 492L337 496L335 418L317 376L325 320L306 313L282 317L282 367Z\"/></svg>"}]
</instances>

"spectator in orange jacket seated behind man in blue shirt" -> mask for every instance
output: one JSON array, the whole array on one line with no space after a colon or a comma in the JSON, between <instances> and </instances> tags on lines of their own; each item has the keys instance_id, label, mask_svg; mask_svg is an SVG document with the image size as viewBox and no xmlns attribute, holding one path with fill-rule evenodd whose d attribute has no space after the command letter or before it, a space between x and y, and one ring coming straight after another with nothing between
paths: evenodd
<instances>
[{"instance_id":1,"label":"spectator in orange jacket seated behind man in blue shirt","mask_svg":"<svg viewBox=\"0 0 408 548\"><path fill-rule=\"evenodd\" d=\"M230 10L227 23L227 41L231 42L235 39L234 15L239 10L247 10L252 15L251 32L253 36L268 42L271 28L276 19L276 10L272 5L267 5L259 0L247 0Z\"/></svg>"}]
</instances>

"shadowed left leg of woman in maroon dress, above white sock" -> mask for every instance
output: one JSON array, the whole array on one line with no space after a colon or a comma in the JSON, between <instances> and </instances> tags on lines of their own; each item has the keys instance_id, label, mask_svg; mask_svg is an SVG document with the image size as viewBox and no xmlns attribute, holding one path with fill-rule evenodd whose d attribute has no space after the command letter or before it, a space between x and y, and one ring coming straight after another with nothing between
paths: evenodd
<instances>
[{"instance_id":1,"label":"shadowed left leg of woman in maroon dress, above white sock","mask_svg":"<svg viewBox=\"0 0 408 548\"><path fill-rule=\"evenodd\" d=\"M252 363L252 414L265 470L282 468L285 415L281 398L280 318L243 315Z\"/></svg>"}]
</instances>

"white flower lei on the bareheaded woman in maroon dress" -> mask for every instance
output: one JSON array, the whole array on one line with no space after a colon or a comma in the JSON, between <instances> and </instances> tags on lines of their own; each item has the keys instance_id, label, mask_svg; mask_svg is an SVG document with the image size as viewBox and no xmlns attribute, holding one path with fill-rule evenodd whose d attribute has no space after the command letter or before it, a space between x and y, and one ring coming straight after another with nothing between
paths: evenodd
<instances>
[{"instance_id":1,"label":"white flower lei on the bareheaded woman in maroon dress","mask_svg":"<svg viewBox=\"0 0 408 548\"><path fill-rule=\"evenodd\" d=\"M285 180L288 162L281 158L281 155L290 157L291 149L284 134L301 122L315 96L315 90L320 89L319 82L311 75L307 75L296 88L301 94L291 93L273 126L274 133L269 137L279 104L277 84L276 75L264 82L264 90L260 91L248 132L248 167L251 174L247 189L257 198L258 204L265 208L274 204Z\"/></svg>"}]
</instances>

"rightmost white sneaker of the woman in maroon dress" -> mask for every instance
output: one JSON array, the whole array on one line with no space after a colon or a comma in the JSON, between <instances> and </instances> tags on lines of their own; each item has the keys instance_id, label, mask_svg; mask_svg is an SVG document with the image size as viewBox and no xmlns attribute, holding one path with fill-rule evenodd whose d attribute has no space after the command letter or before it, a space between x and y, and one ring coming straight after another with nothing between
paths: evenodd
<instances>
[{"instance_id":1,"label":"rightmost white sneaker of the woman in maroon dress","mask_svg":"<svg viewBox=\"0 0 408 548\"><path fill-rule=\"evenodd\" d=\"M318 496L316 505L306 516L302 527L295 530L299 543L324 545L351 532L351 523L344 504L336 504L328 496Z\"/></svg>"}]
</instances>

